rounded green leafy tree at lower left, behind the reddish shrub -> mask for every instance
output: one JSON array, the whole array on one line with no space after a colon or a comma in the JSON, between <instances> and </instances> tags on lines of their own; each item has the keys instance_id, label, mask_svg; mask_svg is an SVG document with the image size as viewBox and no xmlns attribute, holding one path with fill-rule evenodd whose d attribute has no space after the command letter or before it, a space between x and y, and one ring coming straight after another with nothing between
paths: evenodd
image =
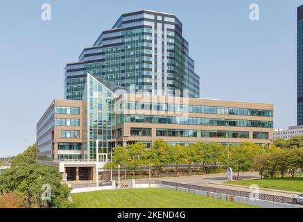
<instances>
[{"instance_id":1,"label":"rounded green leafy tree at lower left, behind the reddish shrub","mask_svg":"<svg viewBox=\"0 0 303 222\"><path fill-rule=\"evenodd\" d=\"M67 199L70 189L61 184L62 175L58 167L42 164L13 166L0 174L0 192L18 192L28 207L71 207ZM49 200L42 199L43 187L49 187Z\"/></svg>"}]
</instances>

